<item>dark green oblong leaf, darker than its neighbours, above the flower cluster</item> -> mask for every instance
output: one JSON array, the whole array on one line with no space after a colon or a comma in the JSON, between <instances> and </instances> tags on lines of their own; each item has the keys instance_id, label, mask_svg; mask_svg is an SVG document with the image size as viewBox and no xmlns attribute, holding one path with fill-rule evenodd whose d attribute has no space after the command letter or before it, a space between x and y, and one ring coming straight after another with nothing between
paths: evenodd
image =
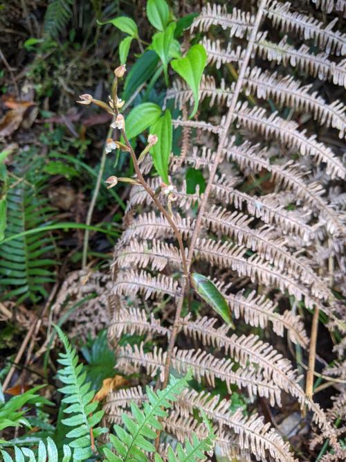
<instances>
[{"instance_id":1,"label":"dark green oblong leaf, darker than its neighbours, above the flower cluster","mask_svg":"<svg viewBox=\"0 0 346 462\"><path fill-rule=\"evenodd\" d=\"M152 50L145 51L145 53L136 60L125 80L125 87L121 96L123 100L128 100L143 83L147 82L149 78L152 78L152 75L154 75L156 71L158 61L158 55Z\"/></svg>"}]
</instances>

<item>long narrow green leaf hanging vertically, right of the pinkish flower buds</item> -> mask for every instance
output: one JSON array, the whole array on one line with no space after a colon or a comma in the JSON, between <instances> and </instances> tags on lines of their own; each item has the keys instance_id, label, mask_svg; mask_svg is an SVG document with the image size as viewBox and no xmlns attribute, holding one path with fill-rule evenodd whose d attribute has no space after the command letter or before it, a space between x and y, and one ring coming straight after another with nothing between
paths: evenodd
<instances>
[{"instance_id":1,"label":"long narrow green leaf hanging vertically, right of the pinkish flower buds","mask_svg":"<svg viewBox=\"0 0 346 462\"><path fill-rule=\"evenodd\" d=\"M150 127L149 131L158 136L157 143L150 150L154 161L154 167L163 181L169 183L168 161L172 151L172 116L168 109L165 111L165 114Z\"/></svg>"}]
</instances>

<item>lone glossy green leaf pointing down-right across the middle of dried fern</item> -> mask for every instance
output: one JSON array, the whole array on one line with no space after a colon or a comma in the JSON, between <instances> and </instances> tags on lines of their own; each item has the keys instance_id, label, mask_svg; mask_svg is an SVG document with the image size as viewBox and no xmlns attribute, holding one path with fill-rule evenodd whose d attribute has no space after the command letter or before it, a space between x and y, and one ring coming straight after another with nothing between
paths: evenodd
<instances>
[{"instance_id":1,"label":"lone glossy green leaf pointing down-right across the middle of dried fern","mask_svg":"<svg viewBox=\"0 0 346 462\"><path fill-rule=\"evenodd\" d=\"M206 276L199 273L192 273L190 280L192 287L201 299L206 301L231 328L235 329L235 325L230 317L228 304L216 285L210 279L206 278Z\"/></svg>"}]
</instances>

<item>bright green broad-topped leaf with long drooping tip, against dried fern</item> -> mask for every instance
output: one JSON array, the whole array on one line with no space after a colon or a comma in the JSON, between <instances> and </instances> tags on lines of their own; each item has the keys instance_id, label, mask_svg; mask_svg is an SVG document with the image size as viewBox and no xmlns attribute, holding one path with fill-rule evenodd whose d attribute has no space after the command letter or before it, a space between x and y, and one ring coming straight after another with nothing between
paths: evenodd
<instances>
[{"instance_id":1,"label":"bright green broad-topped leaf with long drooping tip, against dried fern","mask_svg":"<svg viewBox=\"0 0 346 462\"><path fill-rule=\"evenodd\" d=\"M197 112L199 103L199 85L206 67L207 53L202 45L192 46L184 57L172 60L171 66L188 83L194 96L194 108L190 118Z\"/></svg>"}]
</instances>

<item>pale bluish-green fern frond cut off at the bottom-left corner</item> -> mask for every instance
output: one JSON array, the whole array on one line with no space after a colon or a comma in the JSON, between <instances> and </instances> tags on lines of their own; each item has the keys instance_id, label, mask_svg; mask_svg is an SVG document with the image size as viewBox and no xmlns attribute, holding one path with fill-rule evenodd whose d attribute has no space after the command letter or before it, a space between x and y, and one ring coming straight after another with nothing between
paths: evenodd
<instances>
[{"instance_id":1,"label":"pale bluish-green fern frond cut off at the bottom-left corner","mask_svg":"<svg viewBox=\"0 0 346 462\"><path fill-rule=\"evenodd\" d=\"M71 449L68 445L63 447L62 459L58 459L57 447L51 438L47 438L47 447L43 441L39 442L37 450L37 456L35 453L28 449L28 447L17 447L15 446L15 460L12 459L8 452L1 450L3 456L3 462L24 462L25 457L28 457L29 462L46 462L48 456L48 462L69 462L71 460Z\"/></svg>"}]
</instances>

